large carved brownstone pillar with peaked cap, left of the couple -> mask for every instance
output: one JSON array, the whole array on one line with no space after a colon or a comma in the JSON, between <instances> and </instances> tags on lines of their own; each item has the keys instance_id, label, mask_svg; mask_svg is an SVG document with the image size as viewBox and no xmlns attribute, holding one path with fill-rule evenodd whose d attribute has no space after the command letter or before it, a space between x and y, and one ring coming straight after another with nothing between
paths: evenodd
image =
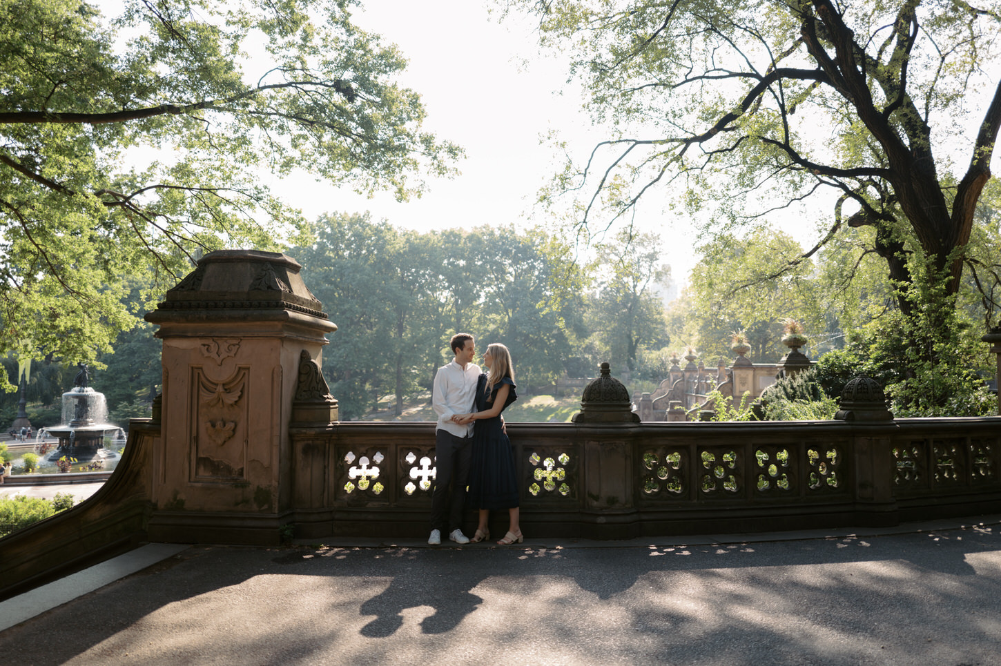
<instances>
[{"instance_id":1,"label":"large carved brownstone pillar with peaked cap, left of the couple","mask_svg":"<svg viewBox=\"0 0 1001 666\"><path fill-rule=\"evenodd\" d=\"M278 542L300 376L312 386L295 418L336 419L325 382L301 366L336 326L299 268L274 252L211 252L146 315L163 341L151 539Z\"/></svg>"}]
</instances>

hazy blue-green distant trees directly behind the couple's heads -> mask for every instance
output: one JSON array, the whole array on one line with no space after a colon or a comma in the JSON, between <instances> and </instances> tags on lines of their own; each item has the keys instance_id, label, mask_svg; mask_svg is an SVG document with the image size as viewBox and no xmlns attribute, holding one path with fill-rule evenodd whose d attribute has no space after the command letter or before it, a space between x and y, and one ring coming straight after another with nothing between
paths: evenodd
<instances>
[{"instance_id":1,"label":"hazy blue-green distant trees directly behind the couple's heads","mask_svg":"<svg viewBox=\"0 0 1001 666\"><path fill-rule=\"evenodd\" d=\"M522 391L550 384L580 327L580 276L569 248L539 230L446 230L418 234L368 215L326 215L312 244L288 252L338 331L323 373L341 418L374 410L382 395L429 395L451 359L450 335L511 349Z\"/></svg>"}]
</instances>

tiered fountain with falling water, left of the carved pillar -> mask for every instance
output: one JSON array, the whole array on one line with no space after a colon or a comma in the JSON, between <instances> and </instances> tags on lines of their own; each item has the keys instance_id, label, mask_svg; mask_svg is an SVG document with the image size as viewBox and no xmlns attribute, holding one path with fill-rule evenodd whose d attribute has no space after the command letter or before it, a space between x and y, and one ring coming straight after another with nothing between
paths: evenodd
<instances>
[{"instance_id":1,"label":"tiered fountain with falling water, left of the carved pillar","mask_svg":"<svg viewBox=\"0 0 1001 666\"><path fill-rule=\"evenodd\" d=\"M73 388L63 393L64 425L45 428L49 435L59 439L59 446L48 459L55 462L66 456L81 463L115 459L118 454L104 447L104 437L108 433L120 433L121 428L107 423L104 394L90 387L87 366L78 363L77 367L80 371L73 380Z\"/></svg>"}]
</instances>

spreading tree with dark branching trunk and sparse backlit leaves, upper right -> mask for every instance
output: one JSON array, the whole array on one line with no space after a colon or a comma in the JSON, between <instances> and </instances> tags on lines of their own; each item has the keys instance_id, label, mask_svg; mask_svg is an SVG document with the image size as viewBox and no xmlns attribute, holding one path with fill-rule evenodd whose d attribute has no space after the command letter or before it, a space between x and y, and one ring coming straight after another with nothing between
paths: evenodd
<instances>
[{"instance_id":1,"label":"spreading tree with dark branching trunk and sparse backlit leaves, upper right","mask_svg":"<svg viewBox=\"0 0 1001 666\"><path fill-rule=\"evenodd\" d=\"M1001 126L994 0L506 4L538 13L615 128L560 181L593 193L583 223L670 181L723 231L828 190L828 238L872 225L899 284L921 258L955 293Z\"/></svg>"}]
</instances>

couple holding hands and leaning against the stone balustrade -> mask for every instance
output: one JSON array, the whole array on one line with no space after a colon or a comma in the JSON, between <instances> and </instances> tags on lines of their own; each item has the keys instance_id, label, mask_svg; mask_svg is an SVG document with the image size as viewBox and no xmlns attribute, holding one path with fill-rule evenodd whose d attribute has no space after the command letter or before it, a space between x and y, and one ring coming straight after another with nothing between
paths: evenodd
<instances>
[{"instance_id":1,"label":"couple holding hands and leaning against the stone balustrade","mask_svg":"<svg viewBox=\"0 0 1001 666\"><path fill-rule=\"evenodd\" d=\"M515 453L500 418L500 412L518 399L511 353L502 344L489 345L483 354L484 374L472 362L471 335L458 333L450 344L455 358L438 368L431 398L438 417L434 431L437 472L427 543L440 544L445 530L455 543L470 542L461 529L466 483L469 503L479 510L472 543L490 538L486 525L490 509L508 509L511 516L508 533L497 543L521 543Z\"/></svg>"}]
</instances>

